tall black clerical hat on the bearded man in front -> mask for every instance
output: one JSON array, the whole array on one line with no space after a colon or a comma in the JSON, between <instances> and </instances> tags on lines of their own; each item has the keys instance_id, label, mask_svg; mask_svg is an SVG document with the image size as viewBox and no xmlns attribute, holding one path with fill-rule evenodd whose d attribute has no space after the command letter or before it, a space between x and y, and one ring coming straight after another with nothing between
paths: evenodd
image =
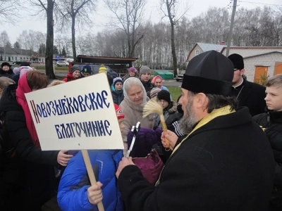
<instances>
[{"instance_id":1,"label":"tall black clerical hat on the bearded man in front","mask_svg":"<svg viewBox=\"0 0 282 211\"><path fill-rule=\"evenodd\" d=\"M190 60L181 87L195 93L228 96L233 73L231 60L217 51L207 51Z\"/></svg>"}]
</instances>

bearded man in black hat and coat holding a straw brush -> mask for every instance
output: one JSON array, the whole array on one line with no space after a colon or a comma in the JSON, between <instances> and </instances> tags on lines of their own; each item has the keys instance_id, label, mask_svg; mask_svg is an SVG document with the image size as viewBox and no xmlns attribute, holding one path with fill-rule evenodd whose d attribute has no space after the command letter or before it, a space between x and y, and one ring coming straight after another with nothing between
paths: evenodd
<instances>
[{"instance_id":1,"label":"bearded man in black hat and coat holding a straw brush","mask_svg":"<svg viewBox=\"0 0 282 211\"><path fill-rule=\"evenodd\" d=\"M162 135L173 152L155 186L131 158L121 160L116 176L126 210L267 210L274 155L248 109L235 110L233 71L216 51L192 58L179 101L180 127L188 136L175 146L176 134Z\"/></svg>"}]
</instances>

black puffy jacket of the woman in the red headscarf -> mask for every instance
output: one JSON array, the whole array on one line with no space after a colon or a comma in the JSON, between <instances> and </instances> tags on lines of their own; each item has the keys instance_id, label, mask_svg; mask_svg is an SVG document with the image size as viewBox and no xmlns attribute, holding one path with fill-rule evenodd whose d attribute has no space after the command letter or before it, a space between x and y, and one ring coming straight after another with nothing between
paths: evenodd
<instances>
[{"instance_id":1,"label":"black puffy jacket of the woman in the red headscarf","mask_svg":"<svg viewBox=\"0 0 282 211\"><path fill-rule=\"evenodd\" d=\"M47 200L55 196L54 165L58 165L59 151L42 151L33 143L26 126L25 113L16 100L16 86L11 84L4 90L0 111L5 114L5 128L19 158L18 162L23 162L23 170L17 173L23 184L18 190L18 203L21 203L22 210L40 210Z\"/></svg>"}]
</instances>

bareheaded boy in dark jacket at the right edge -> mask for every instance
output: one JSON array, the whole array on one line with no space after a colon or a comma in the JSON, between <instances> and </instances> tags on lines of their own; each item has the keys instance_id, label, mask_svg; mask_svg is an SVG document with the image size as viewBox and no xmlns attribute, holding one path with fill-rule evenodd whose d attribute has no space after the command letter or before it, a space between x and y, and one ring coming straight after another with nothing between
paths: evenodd
<instances>
[{"instance_id":1,"label":"bareheaded boy in dark jacket at the right edge","mask_svg":"<svg viewBox=\"0 0 282 211\"><path fill-rule=\"evenodd\" d=\"M276 162L274 190L269 210L282 210L282 75L274 75L266 82L266 113L256 115L259 124L269 138Z\"/></svg>"}]
</instances>

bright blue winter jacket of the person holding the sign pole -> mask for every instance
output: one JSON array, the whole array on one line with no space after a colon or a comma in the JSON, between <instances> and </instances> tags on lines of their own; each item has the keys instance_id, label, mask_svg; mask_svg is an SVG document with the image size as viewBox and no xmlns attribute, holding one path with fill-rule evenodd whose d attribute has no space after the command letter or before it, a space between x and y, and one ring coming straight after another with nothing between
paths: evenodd
<instances>
[{"instance_id":1,"label":"bright blue winter jacket of the person holding the sign pole","mask_svg":"<svg viewBox=\"0 0 282 211\"><path fill-rule=\"evenodd\" d=\"M104 210L123 211L123 201L118 190L116 169L118 162L123 157L123 151L104 150L88 151L95 177L102 186ZM97 170L98 168L99 170ZM96 173L95 173L96 172ZM99 172L99 173L98 173ZM82 158L81 151L68 162L59 184L57 196L61 210L84 211L98 210L97 205L92 205L87 198L87 188L90 180Z\"/></svg>"}]
</instances>

